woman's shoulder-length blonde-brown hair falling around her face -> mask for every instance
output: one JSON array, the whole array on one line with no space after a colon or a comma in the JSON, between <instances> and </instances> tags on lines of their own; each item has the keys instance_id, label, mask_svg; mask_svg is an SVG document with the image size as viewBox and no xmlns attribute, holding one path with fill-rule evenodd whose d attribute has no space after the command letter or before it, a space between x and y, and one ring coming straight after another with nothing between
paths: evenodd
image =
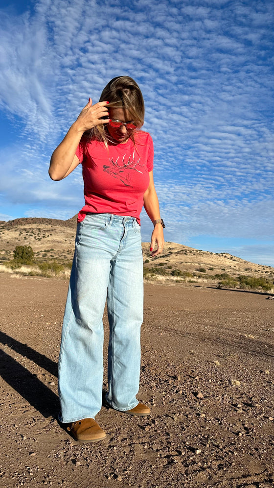
<instances>
[{"instance_id":1,"label":"woman's shoulder-length blonde-brown hair falling around her face","mask_svg":"<svg viewBox=\"0 0 274 488\"><path fill-rule=\"evenodd\" d=\"M137 123L137 129L140 129L143 125L145 115L144 99L136 81L130 76L116 76L109 81L102 91L99 101L109 101L108 108L125 109L130 114L130 118ZM134 132L135 130L129 136L133 142L135 142ZM96 125L85 134L89 139L103 141L105 146L108 146L108 141L111 140L106 125Z\"/></svg>"}]
</instances>

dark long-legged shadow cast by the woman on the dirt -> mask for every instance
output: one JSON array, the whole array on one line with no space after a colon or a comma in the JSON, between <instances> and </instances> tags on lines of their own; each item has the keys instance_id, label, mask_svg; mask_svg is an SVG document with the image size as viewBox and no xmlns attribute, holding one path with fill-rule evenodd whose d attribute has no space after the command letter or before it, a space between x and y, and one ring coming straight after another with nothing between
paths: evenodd
<instances>
[{"instance_id":1,"label":"dark long-legged shadow cast by the woman on the dirt","mask_svg":"<svg viewBox=\"0 0 274 488\"><path fill-rule=\"evenodd\" d=\"M58 365L44 354L40 354L26 344L0 332L0 342L22 356L34 361L38 366L46 369L57 377ZM44 417L58 418L60 409L58 396L40 381L36 374L21 366L11 356L0 350L0 375L14 390L18 391L25 400L38 410Z\"/></svg>"}]
</instances>

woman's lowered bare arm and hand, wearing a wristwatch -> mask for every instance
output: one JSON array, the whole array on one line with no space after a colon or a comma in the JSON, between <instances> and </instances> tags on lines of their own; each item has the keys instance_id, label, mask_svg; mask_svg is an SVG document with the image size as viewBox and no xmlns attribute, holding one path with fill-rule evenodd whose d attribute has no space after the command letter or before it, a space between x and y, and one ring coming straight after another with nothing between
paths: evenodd
<instances>
[{"instance_id":1,"label":"woman's lowered bare arm and hand, wearing a wristwatch","mask_svg":"<svg viewBox=\"0 0 274 488\"><path fill-rule=\"evenodd\" d=\"M154 186L153 171L149 172L149 186L144 194L144 208L152 222L154 222L154 220L160 219L159 201ZM154 249L155 244L158 245L158 248L152 252L153 257L157 256L157 254L160 254L164 246L163 228L161 223L157 223L154 226L150 244L151 251Z\"/></svg>"}]
</instances>

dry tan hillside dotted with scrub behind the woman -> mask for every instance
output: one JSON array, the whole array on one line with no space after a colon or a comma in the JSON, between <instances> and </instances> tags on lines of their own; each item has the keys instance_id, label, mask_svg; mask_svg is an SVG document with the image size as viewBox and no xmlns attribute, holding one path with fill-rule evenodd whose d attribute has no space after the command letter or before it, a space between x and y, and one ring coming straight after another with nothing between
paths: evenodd
<instances>
[{"instance_id":1,"label":"dry tan hillside dotted with scrub behind the woman","mask_svg":"<svg viewBox=\"0 0 274 488\"><path fill-rule=\"evenodd\" d=\"M22 218L0 221L0 260L12 259L16 245L30 245L38 260L71 261L77 216L68 220L46 218ZM213 253L194 249L183 244L167 242L160 257L151 259L149 243L143 243L146 271L158 271L158 278L166 279L176 270L194 273L196 278L228 273L229 276L252 275L273 280L274 268L245 261L226 252ZM180 274L180 273L179 273Z\"/></svg>"}]
</instances>

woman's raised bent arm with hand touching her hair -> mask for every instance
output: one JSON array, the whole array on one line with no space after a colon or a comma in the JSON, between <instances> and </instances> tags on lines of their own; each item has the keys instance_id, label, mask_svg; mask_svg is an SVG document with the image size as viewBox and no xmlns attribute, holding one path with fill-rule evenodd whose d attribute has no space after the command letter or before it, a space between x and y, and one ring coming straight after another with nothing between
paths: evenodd
<instances>
[{"instance_id":1,"label":"woman's raised bent arm with hand touching her hair","mask_svg":"<svg viewBox=\"0 0 274 488\"><path fill-rule=\"evenodd\" d=\"M92 129L95 125L110 122L110 119L101 119L109 115L107 104L108 102L98 102L92 105L92 100L89 99L63 141L52 153L48 170L52 180L66 178L80 163L75 152L84 132Z\"/></svg>"}]
</instances>

